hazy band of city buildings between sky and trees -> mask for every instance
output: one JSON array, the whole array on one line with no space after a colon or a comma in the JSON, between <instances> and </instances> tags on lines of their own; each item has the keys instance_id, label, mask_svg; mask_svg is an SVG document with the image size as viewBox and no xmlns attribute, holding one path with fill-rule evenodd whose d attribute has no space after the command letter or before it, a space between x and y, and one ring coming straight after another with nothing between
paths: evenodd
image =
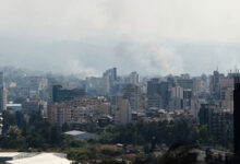
<instances>
[{"instance_id":1,"label":"hazy band of city buildings between sky and trees","mask_svg":"<svg viewBox=\"0 0 240 164\"><path fill-rule=\"evenodd\" d=\"M29 114L61 127L105 127L109 124L172 121L188 118L216 138L233 140L235 77L217 70L212 75L119 75L117 68L101 77L31 74L17 69L0 73L0 110ZM7 94L8 93L8 94Z\"/></svg>"}]
</instances>

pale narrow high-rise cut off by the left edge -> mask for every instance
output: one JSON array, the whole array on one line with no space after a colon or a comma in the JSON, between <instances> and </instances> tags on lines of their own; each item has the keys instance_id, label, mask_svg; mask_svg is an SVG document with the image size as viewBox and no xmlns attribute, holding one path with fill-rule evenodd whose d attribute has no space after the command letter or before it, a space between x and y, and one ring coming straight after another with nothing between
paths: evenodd
<instances>
[{"instance_id":1,"label":"pale narrow high-rise cut off by the left edge","mask_svg":"<svg viewBox=\"0 0 240 164\"><path fill-rule=\"evenodd\" d=\"M0 72L0 110L7 110L7 87L3 72Z\"/></svg>"}]
</instances>

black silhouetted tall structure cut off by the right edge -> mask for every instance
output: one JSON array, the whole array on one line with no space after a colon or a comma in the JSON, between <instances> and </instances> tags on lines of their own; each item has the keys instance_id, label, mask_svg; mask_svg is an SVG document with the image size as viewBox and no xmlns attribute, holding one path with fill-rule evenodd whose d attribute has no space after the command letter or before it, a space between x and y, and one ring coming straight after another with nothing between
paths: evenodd
<instances>
[{"instance_id":1,"label":"black silhouetted tall structure cut off by the right edge","mask_svg":"<svg viewBox=\"0 0 240 164\"><path fill-rule=\"evenodd\" d=\"M235 156L237 162L240 162L240 77L235 78L235 110L233 110L233 124L235 124ZM236 162L236 163L237 163Z\"/></svg>"}]
</instances>

